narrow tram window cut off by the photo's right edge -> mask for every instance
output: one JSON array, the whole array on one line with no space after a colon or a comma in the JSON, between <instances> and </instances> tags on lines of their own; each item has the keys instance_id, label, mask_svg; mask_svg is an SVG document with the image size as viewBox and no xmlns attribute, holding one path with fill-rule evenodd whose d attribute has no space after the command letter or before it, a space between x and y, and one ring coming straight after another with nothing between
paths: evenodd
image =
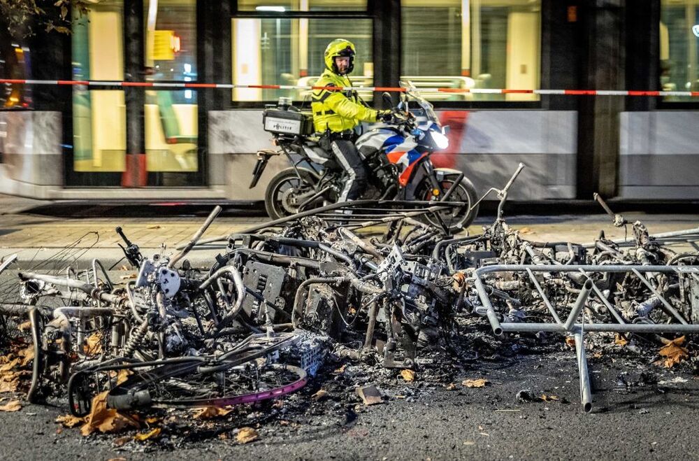
<instances>
[{"instance_id":1,"label":"narrow tram window cut off by the photo's right edge","mask_svg":"<svg viewBox=\"0 0 699 461\"><path fill-rule=\"evenodd\" d=\"M699 47L692 27L699 23L696 0L661 0L660 84L663 91L699 91ZM692 101L668 96L665 101Z\"/></svg>"}]
</instances>

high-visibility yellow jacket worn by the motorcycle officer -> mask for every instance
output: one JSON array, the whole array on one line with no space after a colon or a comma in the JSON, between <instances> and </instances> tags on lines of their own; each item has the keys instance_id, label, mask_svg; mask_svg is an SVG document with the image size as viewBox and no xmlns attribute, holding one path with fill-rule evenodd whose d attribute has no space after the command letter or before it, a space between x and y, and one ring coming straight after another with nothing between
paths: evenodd
<instances>
[{"instance_id":1,"label":"high-visibility yellow jacket worn by the motorcycle officer","mask_svg":"<svg viewBox=\"0 0 699 461\"><path fill-rule=\"evenodd\" d=\"M349 87L347 76L338 76L326 69L313 84L315 87ZM359 122L375 122L376 111L359 99L356 91L313 90L311 110L316 132L343 132L359 125Z\"/></svg>"}]
</instances>

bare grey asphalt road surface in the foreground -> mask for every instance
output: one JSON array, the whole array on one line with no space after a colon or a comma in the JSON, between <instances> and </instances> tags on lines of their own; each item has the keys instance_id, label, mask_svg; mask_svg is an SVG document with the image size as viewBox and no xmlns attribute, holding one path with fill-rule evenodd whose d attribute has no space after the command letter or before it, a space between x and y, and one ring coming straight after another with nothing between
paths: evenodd
<instances>
[{"instance_id":1,"label":"bare grey asphalt road surface in the foreground","mask_svg":"<svg viewBox=\"0 0 699 461\"><path fill-rule=\"evenodd\" d=\"M355 406L351 398L338 403L343 391L331 392L330 399L305 412L271 418L258 429L259 440L245 445L234 437L237 427L251 425L245 412L208 428L164 430L159 441L130 441L117 448L113 441L118 436L83 438L77 429L60 430L54 419L66 413L65 404L25 406L17 413L0 413L0 458L696 459L699 381L680 374L687 383L618 385L620 373L633 376L637 371L631 363L625 357L614 364L591 362L596 406L590 414L576 403L577 367L571 351L481 363L463 372L463 377L487 378L491 385L486 388L428 386L417 397L390 397L369 407ZM660 378L666 374L653 372ZM419 375L410 385L399 379L387 395L422 385ZM309 386L306 392L314 383ZM522 389L561 400L520 403L515 396ZM345 392L353 394L352 389ZM293 401L287 397L286 404ZM566 401L570 403L562 403Z\"/></svg>"}]
</instances>

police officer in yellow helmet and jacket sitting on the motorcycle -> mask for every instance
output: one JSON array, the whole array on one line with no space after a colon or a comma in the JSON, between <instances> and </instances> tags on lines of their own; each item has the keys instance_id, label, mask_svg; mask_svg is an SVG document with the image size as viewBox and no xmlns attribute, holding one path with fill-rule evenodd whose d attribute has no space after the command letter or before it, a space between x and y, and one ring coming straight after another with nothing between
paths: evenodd
<instances>
[{"instance_id":1,"label":"police officer in yellow helmet and jacket sitting on the motorcycle","mask_svg":"<svg viewBox=\"0 0 699 461\"><path fill-rule=\"evenodd\" d=\"M352 86L347 76L354 69L355 54L352 42L342 38L331 41L325 49L326 69L314 86ZM338 201L357 199L366 187L367 176L359 151L354 146L356 134L353 129L359 122L391 120L391 111L375 111L354 90L332 89L314 90L311 109L315 131L323 133L321 146L332 150L348 176Z\"/></svg>"}]
</instances>

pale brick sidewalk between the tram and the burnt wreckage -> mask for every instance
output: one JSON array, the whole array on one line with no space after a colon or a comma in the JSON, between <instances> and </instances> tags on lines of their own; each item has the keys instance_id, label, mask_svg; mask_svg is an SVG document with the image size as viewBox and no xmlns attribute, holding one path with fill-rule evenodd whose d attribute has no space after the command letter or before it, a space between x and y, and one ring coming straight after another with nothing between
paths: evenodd
<instances>
[{"instance_id":1,"label":"pale brick sidewalk between the tram and the burnt wreckage","mask_svg":"<svg viewBox=\"0 0 699 461\"><path fill-rule=\"evenodd\" d=\"M634 215L628 213L629 221L640 219L651 234L689 229L699 226L698 215ZM166 244L166 253L175 252L175 247L187 243L201 227L203 217L178 218L52 218L36 215L3 215L0 217L0 259L13 253L20 260L36 261L49 258L66 246L88 250L81 255L90 261L97 257L104 264L113 264L122 257L117 243L123 243L114 231L121 226L129 239L136 243L145 255L159 253L161 244ZM493 218L481 218L477 225L469 228L471 234L480 234L483 225ZM202 239L227 236L240 232L252 225L266 222L267 218L217 218ZM519 229L525 239L533 241L573 241L587 243L605 231L607 239L624 238L623 228L612 226L606 215L592 216L532 216L508 220L510 227ZM96 234L89 234L96 232ZM99 239L96 237L99 236ZM628 239L633 239L629 227ZM79 241L79 242L78 242ZM76 242L78 242L76 244ZM198 248L190 253L192 263L206 266L225 243Z\"/></svg>"}]
</instances>

